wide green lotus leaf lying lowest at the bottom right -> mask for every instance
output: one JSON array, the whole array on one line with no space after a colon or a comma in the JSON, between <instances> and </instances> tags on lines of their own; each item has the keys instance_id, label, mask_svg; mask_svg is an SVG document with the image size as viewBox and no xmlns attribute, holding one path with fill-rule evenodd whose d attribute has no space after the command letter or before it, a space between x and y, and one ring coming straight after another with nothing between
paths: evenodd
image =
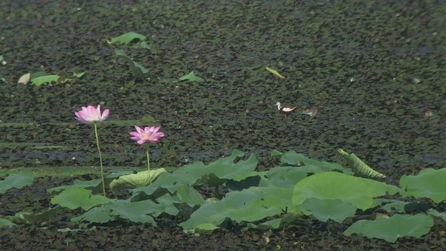
<instances>
[{"instance_id":1,"label":"wide green lotus leaf lying lowest at the bottom right","mask_svg":"<svg viewBox=\"0 0 446 251\"><path fill-rule=\"evenodd\" d=\"M394 243L403 236L420 238L427 234L433 226L430 215L393 215L390 218L379 218L378 220L358 220L353 223L344 234L360 234L367 238L380 238Z\"/></svg>"}]
</instances>

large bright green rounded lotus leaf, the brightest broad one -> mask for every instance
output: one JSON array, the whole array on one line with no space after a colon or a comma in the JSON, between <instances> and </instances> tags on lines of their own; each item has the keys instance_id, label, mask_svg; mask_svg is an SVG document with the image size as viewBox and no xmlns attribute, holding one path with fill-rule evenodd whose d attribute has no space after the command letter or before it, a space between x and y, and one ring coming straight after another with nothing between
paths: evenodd
<instances>
[{"instance_id":1,"label":"large bright green rounded lotus leaf, the brightest broad one","mask_svg":"<svg viewBox=\"0 0 446 251\"><path fill-rule=\"evenodd\" d=\"M371 207L374 193L362 178L339 172L322 172L299 181L293 190L293 204L306 199L340 199L350 202L363 211Z\"/></svg>"}]
</instances>

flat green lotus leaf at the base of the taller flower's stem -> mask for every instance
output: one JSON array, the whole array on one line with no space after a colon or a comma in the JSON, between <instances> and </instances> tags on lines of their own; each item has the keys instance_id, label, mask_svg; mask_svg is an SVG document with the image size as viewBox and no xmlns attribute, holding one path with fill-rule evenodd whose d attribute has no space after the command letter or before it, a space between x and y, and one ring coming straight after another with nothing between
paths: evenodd
<instances>
[{"instance_id":1,"label":"flat green lotus leaf at the base of the taller flower's stem","mask_svg":"<svg viewBox=\"0 0 446 251\"><path fill-rule=\"evenodd\" d=\"M82 208L84 211L89 210L93 206L107 204L112 199L107 199L102 195L91 195L91 190L84 188L71 188L64 190L59 195L51 199L52 204L59 204L62 207L76 209Z\"/></svg>"}]
</instances>

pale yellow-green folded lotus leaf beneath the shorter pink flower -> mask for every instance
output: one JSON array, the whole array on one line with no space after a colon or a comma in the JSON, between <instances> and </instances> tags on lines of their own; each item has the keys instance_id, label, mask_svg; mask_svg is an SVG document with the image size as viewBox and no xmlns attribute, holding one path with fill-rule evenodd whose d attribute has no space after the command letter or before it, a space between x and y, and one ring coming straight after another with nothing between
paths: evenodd
<instances>
[{"instance_id":1,"label":"pale yellow-green folded lotus leaf beneath the shorter pink flower","mask_svg":"<svg viewBox=\"0 0 446 251\"><path fill-rule=\"evenodd\" d=\"M122 190L125 188L145 187L146 185L152 183L152 181L163 172L166 172L166 170L164 168L160 168L137 172L136 174L123 175L110 183L110 189Z\"/></svg>"}]
</instances>

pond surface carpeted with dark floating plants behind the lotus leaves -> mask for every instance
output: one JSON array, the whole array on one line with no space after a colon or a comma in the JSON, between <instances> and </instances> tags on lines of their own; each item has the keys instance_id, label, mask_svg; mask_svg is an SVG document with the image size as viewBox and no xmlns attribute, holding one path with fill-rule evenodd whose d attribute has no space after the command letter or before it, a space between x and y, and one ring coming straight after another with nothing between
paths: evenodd
<instances>
[{"instance_id":1,"label":"pond surface carpeted with dark floating plants behind the lotus leaves","mask_svg":"<svg viewBox=\"0 0 446 251\"><path fill-rule=\"evenodd\" d=\"M1 174L95 172L93 130L74 112L98 104L111 110L99 128L109 171L144 169L144 149L128 139L134 124L165 132L151 148L151 167L206 162L239 149L269 169L278 163L270 157L274 149L339 161L339 148L390 183L445 167L443 1L48 0L2 1L0 9ZM146 36L150 49L107 43L129 31ZM147 68L150 79L134 77L115 56L118 48ZM43 69L85 74L61 84L17 84ZM178 80L191 71L204 82ZM297 108L284 116L276 102ZM317 114L301 114L306 109ZM171 238L164 237L158 236ZM348 239L326 240L337 238Z\"/></svg>"}]
</instances>

